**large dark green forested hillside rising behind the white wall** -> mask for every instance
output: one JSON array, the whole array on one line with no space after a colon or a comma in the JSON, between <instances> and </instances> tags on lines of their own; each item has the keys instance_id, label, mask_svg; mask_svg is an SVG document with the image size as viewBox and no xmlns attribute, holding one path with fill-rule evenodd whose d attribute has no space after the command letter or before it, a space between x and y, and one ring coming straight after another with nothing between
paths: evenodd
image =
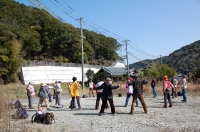
<instances>
[{"instance_id":1,"label":"large dark green forested hillside rising behind the white wall","mask_svg":"<svg viewBox=\"0 0 200 132\"><path fill-rule=\"evenodd\" d=\"M1 46L10 39L21 44L20 55L25 60L62 58L64 62L81 63L80 29L56 20L44 10L1 0L0 34ZM119 59L116 50L120 45L114 38L88 30L83 34L85 63Z\"/></svg>"}]
</instances>

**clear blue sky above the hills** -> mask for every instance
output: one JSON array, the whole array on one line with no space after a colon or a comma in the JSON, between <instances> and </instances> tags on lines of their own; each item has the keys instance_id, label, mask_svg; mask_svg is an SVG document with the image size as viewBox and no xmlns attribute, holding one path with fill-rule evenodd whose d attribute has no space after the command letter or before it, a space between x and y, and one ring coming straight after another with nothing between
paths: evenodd
<instances>
[{"instance_id":1,"label":"clear blue sky above the hills","mask_svg":"<svg viewBox=\"0 0 200 132\"><path fill-rule=\"evenodd\" d=\"M16 0L29 6L30 1ZM200 0L38 0L51 12L74 27L82 27L113 37L124 44L118 54L126 54L129 64L168 56L175 50L200 40ZM126 62L126 60L125 60Z\"/></svg>"}]
</instances>

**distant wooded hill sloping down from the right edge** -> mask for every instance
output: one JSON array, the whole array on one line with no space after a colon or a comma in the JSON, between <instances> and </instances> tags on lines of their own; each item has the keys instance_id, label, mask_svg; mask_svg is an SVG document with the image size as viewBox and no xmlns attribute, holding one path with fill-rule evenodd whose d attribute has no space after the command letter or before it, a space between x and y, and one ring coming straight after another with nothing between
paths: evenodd
<instances>
[{"instance_id":1,"label":"distant wooded hill sloping down from the right edge","mask_svg":"<svg viewBox=\"0 0 200 132\"><path fill-rule=\"evenodd\" d=\"M161 60L160 58L153 60L148 59L144 60L144 62L130 64L129 68L140 69L152 62L160 63ZM162 63L168 64L180 72L187 70L194 71L200 68L200 40L172 52L169 56L162 57Z\"/></svg>"}]
</instances>

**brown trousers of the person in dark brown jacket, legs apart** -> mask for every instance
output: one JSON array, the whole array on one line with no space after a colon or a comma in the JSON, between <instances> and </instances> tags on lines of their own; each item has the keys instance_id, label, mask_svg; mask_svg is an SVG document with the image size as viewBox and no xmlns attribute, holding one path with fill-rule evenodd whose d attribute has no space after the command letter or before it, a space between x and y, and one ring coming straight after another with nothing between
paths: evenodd
<instances>
[{"instance_id":1,"label":"brown trousers of the person in dark brown jacket, legs apart","mask_svg":"<svg viewBox=\"0 0 200 132\"><path fill-rule=\"evenodd\" d=\"M141 95L133 95L133 101L132 101L130 113L134 112L134 107L135 107L135 103L136 103L137 98L140 100L140 103L142 104L144 112L147 113L147 106L146 106L146 103L144 101L144 97L143 97L142 94Z\"/></svg>"}]
</instances>

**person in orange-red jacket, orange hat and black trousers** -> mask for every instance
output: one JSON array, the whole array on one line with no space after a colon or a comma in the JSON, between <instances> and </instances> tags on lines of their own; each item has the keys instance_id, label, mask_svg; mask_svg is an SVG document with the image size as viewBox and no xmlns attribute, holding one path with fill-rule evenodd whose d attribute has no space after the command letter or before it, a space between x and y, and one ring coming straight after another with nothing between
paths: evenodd
<instances>
[{"instance_id":1,"label":"person in orange-red jacket, orange hat and black trousers","mask_svg":"<svg viewBox=\"0 0 200 132\"><path fill-rule=\"evenodd\" d=\"M174 86L168 80L168 77L164 76L163 77L163 95L164 95L164 106L163 106L163 108L167 108L167 100L169 102L169 107L172 107L172 101L171 101L171 97L170 97L171 87L174 89Z\"/></svg>"}]
</instances>

